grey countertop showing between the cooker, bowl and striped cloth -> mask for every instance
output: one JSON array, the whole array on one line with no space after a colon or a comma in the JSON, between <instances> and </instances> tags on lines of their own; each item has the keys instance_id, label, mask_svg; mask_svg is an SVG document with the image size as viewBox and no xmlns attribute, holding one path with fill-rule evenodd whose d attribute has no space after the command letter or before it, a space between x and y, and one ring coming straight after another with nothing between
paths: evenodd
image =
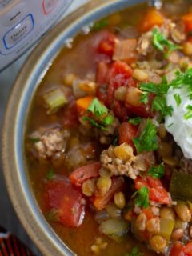
<instances>
[{"instance_id":1,"label":"grey countertop showing between the cooker, bowl and striped cloth","mask_svg":"<svg viewBox=\"0 0 192 256\"><path fill-rule=\"evenodd\" d=\"M75 0L70 6L66 14L74 11L78 6L88 2L88 0ZM30 51L28 51L22 58L19 58L17 62L14 62L6 70L0 73L0 127L2 131L2 121L6 111L6 104L14 85L15 78L18 71L21 69L23 62L27 58ZM4 132L4 131L3 131ZM13 206L11 206L10 198L6 192L6 185L2 174L2 163L0 162L0 226L10 230L13 234L16 234L18 238L22 240L37 256L42 254L38 248L30 240L25 230L23 230L21 223L18 220L17 215L14 212ZM30 225L30 224L29 224Z\"/></svg>"}]
</instances>

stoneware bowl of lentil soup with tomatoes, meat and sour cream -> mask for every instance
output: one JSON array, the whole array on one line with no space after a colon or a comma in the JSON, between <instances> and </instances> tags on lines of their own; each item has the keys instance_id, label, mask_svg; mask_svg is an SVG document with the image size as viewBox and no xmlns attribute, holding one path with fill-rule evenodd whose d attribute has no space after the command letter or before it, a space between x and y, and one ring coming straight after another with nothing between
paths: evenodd
<instances>
[{"instance_id":1,"label":"stoneware bowl of lentil soup with tomatoes, meat and sour cream","mask_svg":"<svg viewBox=\"0 0 192 256\"><path fill-rule=\"evenodd\" d=\"M191 255L191 33L186 0L93 1L30 55L2 160L43 255Z\"/></svg>"}]
</instances>

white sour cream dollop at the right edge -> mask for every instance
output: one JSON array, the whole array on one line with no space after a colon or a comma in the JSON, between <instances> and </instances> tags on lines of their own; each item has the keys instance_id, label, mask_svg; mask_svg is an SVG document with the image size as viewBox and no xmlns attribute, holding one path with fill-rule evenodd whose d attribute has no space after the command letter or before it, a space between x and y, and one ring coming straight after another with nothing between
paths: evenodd
<instances>
[{"instance_id":1,"label":"white sour cream dollop at the right edge","mask_svg":"<svg viewBox=\"0 0 192 256\"><path fill-rule=\"evenodd\" d=\"M174 99L174 94L178 94L181 98L179 106ZM181 147L184 156L192 158L192 118L184 118L187 112L186 107L192 106L192 100L190 100L186 86L180 89L170 87L166 94L166 104L174 109L171 116L166 116L166 130L173 135L174 141Z\"/></svg>"}]
</instances>

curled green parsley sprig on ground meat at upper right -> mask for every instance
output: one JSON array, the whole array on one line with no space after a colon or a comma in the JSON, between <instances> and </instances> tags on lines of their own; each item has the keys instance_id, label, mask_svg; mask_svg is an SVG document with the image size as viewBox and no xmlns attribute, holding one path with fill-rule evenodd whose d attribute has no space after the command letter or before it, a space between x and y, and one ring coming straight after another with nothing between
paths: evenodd
<instances>
[{"instance_id":1,"label":"curled green parsley sprig on ground meat at upper right","mask_svg":"<svg viewBox=\"0 0 192 256\"><path fill-rule=\"evenodd\" d=\"M170 40L167 40L165 35L160 33L158 29L153 30L153 36L154 36L154 46L160 50L164 51L165 48L168 50L168 55L170 54L171 51L181 49L181 46L177 46L174 43L170 42ZM167 57L166 54L166 57Z\"/></svg>"}]
</instances>

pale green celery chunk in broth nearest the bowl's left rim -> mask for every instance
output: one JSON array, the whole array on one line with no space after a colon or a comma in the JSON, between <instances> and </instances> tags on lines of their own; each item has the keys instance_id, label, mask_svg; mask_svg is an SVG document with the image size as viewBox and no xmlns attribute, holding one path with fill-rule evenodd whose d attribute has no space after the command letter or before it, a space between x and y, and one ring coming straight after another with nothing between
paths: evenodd
<instances>
[{"instance_id":1,"label":"pale green celery chunk in broth nearest the bowl's left rim","mask_svg":"<svg viewBox=\"0 0 192 256\"><path fill-rule=\"evenodd\" d=\"M61 89L52 90L43 95L48 108L47 114L53 114L68 102Z\"/></svg>"}]
</instances>

